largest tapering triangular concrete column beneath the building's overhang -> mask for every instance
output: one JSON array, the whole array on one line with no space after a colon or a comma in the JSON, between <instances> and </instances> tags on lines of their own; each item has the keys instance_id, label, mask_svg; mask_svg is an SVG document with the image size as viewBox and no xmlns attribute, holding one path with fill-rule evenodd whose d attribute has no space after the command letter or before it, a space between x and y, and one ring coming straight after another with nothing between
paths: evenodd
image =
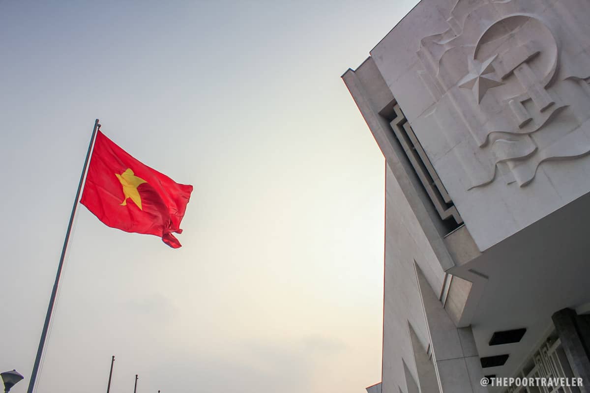
<instances>
[{"instance_id":1,"label":"largest tapering triangular concrete column beneath the building's overhang","mask_svg":"<svg viewBox=\"0 0 590 393\"><path fill-rule=\"evenodd\" d=\"M471 328L457 328L417 264L418 288L441 393L483 393L483 369ZM430 392L428 392L430 393Z\"/></svg>"}]
</instances>

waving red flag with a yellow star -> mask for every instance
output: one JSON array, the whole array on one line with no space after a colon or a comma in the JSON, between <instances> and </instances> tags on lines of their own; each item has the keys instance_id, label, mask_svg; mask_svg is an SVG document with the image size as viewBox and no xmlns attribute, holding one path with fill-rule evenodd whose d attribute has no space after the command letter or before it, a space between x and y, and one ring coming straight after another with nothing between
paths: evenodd
<instances>
[{"instance_id":1,"label":"waving red flag with a yellow star","mask_svg":"<svg viewBox=\"0 0 590 393\"><path fill-rule=\"evenodd\" d=\"M172 248L192 186L140 163L97 132L80 203L107 226L162 237Z\"/></svg>"}]
</instances>

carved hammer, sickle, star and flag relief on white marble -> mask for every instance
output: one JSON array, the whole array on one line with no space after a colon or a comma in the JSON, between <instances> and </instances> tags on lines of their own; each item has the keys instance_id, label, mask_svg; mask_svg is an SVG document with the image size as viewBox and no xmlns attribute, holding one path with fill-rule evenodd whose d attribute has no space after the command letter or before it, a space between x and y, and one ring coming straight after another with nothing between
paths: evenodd
<instances>
[{"instance_id":1,"label":"carved hammer, sickle, star and flag relief on white marble","mask_svg":"<svg viewBox=\"0 0 590 393\"><path fill-rule=\"evenodd\" d=\"M590 153L590 24L566 3L458 0L447 31L421 40L418 74L438 101L427 115L444 130L459 113L487 168L470 189L499 173L523 187L544 161Z\"/></svg>"}]
</instances>

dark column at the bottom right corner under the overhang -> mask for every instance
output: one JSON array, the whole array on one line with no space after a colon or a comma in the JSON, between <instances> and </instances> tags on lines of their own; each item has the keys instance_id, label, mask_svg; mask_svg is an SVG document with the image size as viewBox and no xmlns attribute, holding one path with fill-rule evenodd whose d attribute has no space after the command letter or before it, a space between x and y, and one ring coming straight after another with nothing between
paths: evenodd
<instances>
[{"instance_id":1,"label":"dark column at the bottom right corner under the overhang","mask_svg":"<svg viewBox=\"0 0 590 393\"><path fill-rule=\"evenodd\" d=\"M563 351L568 358L573 375L582 378L584 387L581 393L590 393L590 332L587 316L579 316L575 311L564 308L553 314L553 325L561 340Z\"/></svg>"}]
</instances>

